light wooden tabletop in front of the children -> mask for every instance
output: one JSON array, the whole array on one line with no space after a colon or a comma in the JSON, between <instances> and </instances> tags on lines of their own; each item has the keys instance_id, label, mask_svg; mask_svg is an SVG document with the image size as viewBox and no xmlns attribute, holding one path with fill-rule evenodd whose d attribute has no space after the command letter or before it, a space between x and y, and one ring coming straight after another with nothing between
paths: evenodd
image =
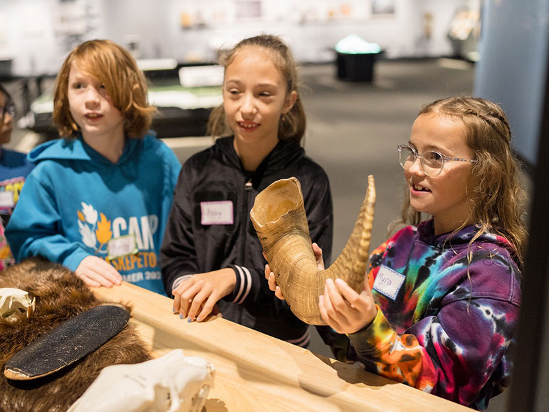
<instances>
[{"instance_id":1,"label":"light wooden tabletop in front of the children","mask_svg":"<svg viewBox=\"0 0 549 412\"><path fill-rule=\"evenodd\" d=\"M123 282L92 288L132 306L132 321L154 356L176 348L215 367L206 411L469 411L221 317L188 323L172 299Z\"/></svg>"}]
</instances>

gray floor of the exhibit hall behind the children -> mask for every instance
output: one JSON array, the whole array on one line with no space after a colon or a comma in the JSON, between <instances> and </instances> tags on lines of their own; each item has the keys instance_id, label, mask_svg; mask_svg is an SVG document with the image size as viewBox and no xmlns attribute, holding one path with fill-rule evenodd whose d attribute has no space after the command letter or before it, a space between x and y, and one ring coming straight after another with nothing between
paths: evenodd
<instances>
[{"instance_id":1,"label":"gray floor of the exhibit hall behind the children","mask_svg":"<svg viewBox=\"0 0 549 412\"><path fill-rule=\"evenodd\" d=\"M305 150L326 170L334 198L332 260L351 233L369 174L377 189L372 236L372 247L377 247L386 239L388 224L399 216L404 182L397 145L408 141L421 105L472 93L474 67L448 59L381 60L372 83L336 80L331 65L303 66L301 76L308 120ZM16 131L12 146L23 134ZM181 161L209 144L209 139L186 141L174 148ZM329 356L316 331L313 336L310 349ZM502 396L495 398L489 411L502 411L502 404Z\"/></svg>"}]
</instances>

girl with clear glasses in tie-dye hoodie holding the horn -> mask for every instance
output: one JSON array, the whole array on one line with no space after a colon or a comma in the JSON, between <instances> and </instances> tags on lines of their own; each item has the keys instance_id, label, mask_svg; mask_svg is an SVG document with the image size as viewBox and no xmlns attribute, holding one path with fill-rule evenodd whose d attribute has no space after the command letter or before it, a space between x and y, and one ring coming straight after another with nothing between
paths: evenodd
<instances>
[{"instance_id":1,"label":"girl with clear glasses in tie-dye hoodie holding the horn","mask_svg":"<svg viewBox=\"0 0 549 412\"><path fill-rule=\"evenodd\" d=\"M479 410L509 385L521 299L524 191L510 144L497 104L425 106L399 146L409 226L373 251L360 294L328 279L319 300L364 368ZM266 277L281 297L268 266Z\"/></svg>"}]
</instances>

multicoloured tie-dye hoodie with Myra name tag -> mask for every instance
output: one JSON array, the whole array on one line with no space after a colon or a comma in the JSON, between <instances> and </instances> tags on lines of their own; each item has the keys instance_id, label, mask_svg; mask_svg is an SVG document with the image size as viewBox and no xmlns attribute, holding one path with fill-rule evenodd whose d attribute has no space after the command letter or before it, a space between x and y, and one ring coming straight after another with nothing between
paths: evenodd
<instances>
[{"instance_id":1,"label":"multicoloured tie-dye hoodie with Myra name tag","mask_svg":"<svg viewBox=\"0 0 549 412\"><path fill-rule=\"evenodd\" d=\"M504 238L484 233L469 248L475 231L435 236L428 220L375 249L379 310L349 338L366 369L484 410L509 386L520 274Z\"/></svg>"}]
</instances>

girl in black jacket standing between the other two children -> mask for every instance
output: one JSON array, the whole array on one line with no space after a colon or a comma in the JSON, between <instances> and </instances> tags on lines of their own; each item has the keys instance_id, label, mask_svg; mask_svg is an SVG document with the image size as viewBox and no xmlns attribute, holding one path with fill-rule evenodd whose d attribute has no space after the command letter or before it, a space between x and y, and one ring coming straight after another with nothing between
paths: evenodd
<instances>
[{"instance_id":1,"label":"girl in black jacket standing between the other two children","mask_svg":"<svg viewBox=\"0 0 549 412\"><path fill-rule=\"evenodd\" d=\"M320 246L320 259L329 263L331 194L324 170L299 145L305 112L296 64L288 47L270 35L241 41L223 64L223 104L212 112L209 128L213 136L231 136L183 165L161 249L165 289L181 319L202 321L220 311L225 319L305 347L307 325L270 293L249 217L261 190L296 176L314 249L318 255ZM347 358L345 336L329 327L318 332L337 358Z\"/></svg>"}]
</instances>

